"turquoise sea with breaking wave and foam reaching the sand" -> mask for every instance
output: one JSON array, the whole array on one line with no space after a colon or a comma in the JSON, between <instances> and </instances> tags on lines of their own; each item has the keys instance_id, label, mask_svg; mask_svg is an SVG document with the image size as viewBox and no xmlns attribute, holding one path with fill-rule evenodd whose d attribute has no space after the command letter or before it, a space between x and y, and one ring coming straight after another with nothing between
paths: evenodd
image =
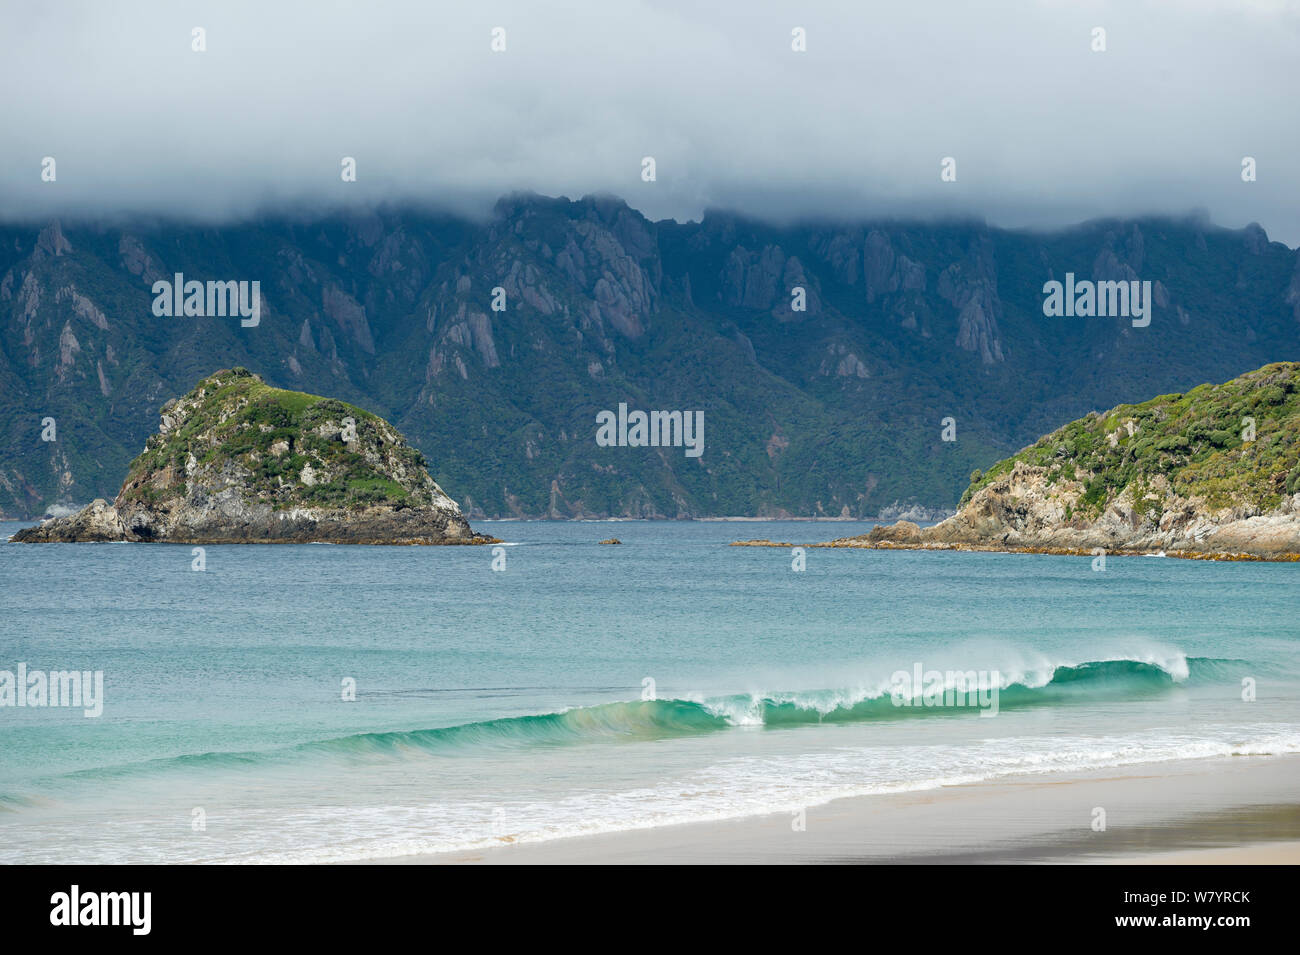
<instances>
[{"instance_id":1,"label":"turquoise sea with breaking wave and foam reaching the sand","mask_svg":"<svg viewBox=\"0 0 1300 955\"><path fill-rule=\"evenodd\" d=\"M1300 567L725 546L870 526L484 524L503 572L0 543L0 670L104 674L98 719L0 707L0 861L382 858L1300 751ZM918 665L985 674L996 716L896 706Z\"/></svg>"}]
</instances>

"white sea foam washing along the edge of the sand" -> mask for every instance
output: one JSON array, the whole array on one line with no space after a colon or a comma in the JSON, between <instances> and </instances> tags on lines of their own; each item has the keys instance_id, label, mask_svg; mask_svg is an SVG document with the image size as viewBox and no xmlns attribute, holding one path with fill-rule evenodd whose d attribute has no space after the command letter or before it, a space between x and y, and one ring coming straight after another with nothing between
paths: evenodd
<instances>
[{"instance_id":1,"label":"white sea foam washing along the edge of the sand","mask_svg":"<svg viewBox=\"0 0 1300 955\"><path fill-rule=\"evenodd\" d=\"M576 835L630 832L789 812L832 799L939 789L1017 774L1079 772L1147 763L1300 752L1300 726L1222 728L1222 737L1143 734L1005 738L979 747L923 747L898 763L885 750L732 759L706 770L625 790L593 790L554 803L380 807L304 815L290 829L312 846L265 846L209 861L325 863L491 848ZM939 770L937 767L944 767ZM893 769L890 777L889 769ZM867 780L871 780L867 782ZM498 816L504 828L494 822ZM285 820L277 825L283 826ZM494 832L494 825L499 832ZM394 838L394 832L407 833ZM333 838L322 839L324 833Z\"/></svg>"}]
</instances>

